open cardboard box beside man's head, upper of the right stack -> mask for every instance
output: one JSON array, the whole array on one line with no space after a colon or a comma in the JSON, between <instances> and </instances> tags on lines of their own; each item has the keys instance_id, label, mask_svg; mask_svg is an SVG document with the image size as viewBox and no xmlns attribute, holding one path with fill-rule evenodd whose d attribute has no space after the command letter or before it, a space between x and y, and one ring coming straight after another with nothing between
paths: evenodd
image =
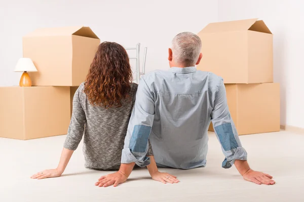
<instances>
[{"instance_id":1,"label":"open cardboard box beside man's head, upper of the right stack","mask_svg":"<svg viewBox=\"0 0 304 202\"><path fill-rule=\"evenodd\" d=\"M221 76L224 83L273 82L273 34L263 21L210 23L198 36L199 70Z\"/></svg>"}]
</instances>

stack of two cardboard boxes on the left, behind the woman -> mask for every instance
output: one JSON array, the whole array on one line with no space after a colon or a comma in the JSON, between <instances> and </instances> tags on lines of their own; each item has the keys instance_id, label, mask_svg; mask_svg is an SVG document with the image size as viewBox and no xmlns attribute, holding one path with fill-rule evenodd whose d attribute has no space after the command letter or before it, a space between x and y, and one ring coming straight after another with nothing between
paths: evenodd
<instances>
[{"instance_id":1,"label":"stack of two cardboard boxes on the left, behind the woman","mask_svg":"<svg viewBox=\"0 0 304 202\"><path fill-rule=\"evenodd\" d=\"M88 74L100 39L89 27L37 29L23 37L23 57L38 72L31 87L0 87L0 137L67 133L72 96Z\"/></svg>"}]
</instances>

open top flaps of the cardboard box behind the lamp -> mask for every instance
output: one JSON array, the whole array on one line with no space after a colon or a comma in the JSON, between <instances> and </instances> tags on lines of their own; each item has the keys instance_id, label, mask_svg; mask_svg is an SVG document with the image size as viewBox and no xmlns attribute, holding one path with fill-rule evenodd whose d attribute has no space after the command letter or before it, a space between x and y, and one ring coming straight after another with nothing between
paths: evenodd
<instances>
[{"instance_id":1,"label":"open top flaps of the cardboard box behind the lamp","mask_svg":"<svg viewBox=\"0 0 304 202\"><path fill-rule=\"evenodd\" d=\"M56 27L56 28L40 28L25 35L24 37L33 36L66 36L79 35L90 38L98 38L89 27L73 26L73 27ZM99 38L98 38L99 39Z\"/></svg>"}]
</instances>

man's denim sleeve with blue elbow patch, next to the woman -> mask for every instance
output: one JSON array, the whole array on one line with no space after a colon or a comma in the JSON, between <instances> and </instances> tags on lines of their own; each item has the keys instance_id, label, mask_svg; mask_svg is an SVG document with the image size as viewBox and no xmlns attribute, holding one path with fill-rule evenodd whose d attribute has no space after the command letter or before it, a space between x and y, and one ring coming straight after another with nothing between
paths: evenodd
<instances>
[{"instance_id":1,"label":"man's denim sleeve with blue elbow patch, next to the woman","mask_svg":"<svg viewBox=\"0 0 304 202\"><path fill-rule=\"evenodd\" d=\"M135 162L140 167L149 165L150 159L146 157L146 154L149 148L148 140L154 114L154 96L144 78L141 78L122 151L122 164Z\"/></svg>"}]
</instances>

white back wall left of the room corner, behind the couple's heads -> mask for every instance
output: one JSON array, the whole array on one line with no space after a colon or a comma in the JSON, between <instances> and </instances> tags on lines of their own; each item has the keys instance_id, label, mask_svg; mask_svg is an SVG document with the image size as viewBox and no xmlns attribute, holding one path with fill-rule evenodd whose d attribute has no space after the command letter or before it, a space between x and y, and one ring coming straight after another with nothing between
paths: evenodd
<instances>
[{"instance_id":1,"label":"white back wall left of the room corner, behind the couple's heads","mask_svg":"<svg viewBox=\"0 0 304 202\"><path fill-rule=\"evenodd\" d=\"M22 36L36 28L85 25L101 41L116 41L125 47L140 42L141 47L148 47L146 72L149 72L168 68L168 47L177 33L197 33L216 20L217 1L208 0L2 1L0 86L19 84L21 73L13 70L22 57Z\"/></svg>"}]
</instances>

